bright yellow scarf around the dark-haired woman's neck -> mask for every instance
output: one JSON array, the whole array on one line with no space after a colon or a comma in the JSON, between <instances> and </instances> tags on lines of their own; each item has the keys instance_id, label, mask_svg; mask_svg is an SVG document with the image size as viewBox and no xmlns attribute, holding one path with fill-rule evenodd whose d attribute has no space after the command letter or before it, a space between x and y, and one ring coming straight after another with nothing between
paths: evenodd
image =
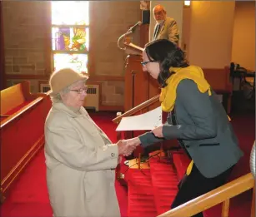
<instances>
[{"instance_id":1,"label":"bright yellow scarf around the dark-haired woman's neck","mask_svg":"<svg viewBox=\"0 0 256 217\"><path fill-rule=\"evenodd\" d=\"M203 70L200 67L189 66L185 68L170 67L170 72L175 72L168 78L167 86L163 87L160 94L160 101L163 111L172 111L176 100L176 89L178 83L183 79L193 80L198 85L198 90L202 93L208 91L211 96L210 85L204 79Z\"/></svg>"}]
</instances>

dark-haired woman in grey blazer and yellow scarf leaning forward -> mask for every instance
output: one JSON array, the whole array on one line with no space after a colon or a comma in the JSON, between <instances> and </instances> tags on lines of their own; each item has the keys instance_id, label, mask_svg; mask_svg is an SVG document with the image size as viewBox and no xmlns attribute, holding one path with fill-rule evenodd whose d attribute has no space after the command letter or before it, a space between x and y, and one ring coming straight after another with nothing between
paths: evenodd
<instances>
[{"instance_id":1,"label":"dark-haired woman in grey blazer and yellow scarf leaning forward","mask_svg":"<svg viewBox=\"0 0 256 217\"><path fill-rule=\"evenodd\" d=\"M177 139L191 159L172 208L223 185L243 152L218 98L200 67L189 66L173 42L157 40L143 51L143 71L162 87L167 123L128 141L147 147ZM195 216L203 216L199 213Z\"/></svg>"}]
</instances>

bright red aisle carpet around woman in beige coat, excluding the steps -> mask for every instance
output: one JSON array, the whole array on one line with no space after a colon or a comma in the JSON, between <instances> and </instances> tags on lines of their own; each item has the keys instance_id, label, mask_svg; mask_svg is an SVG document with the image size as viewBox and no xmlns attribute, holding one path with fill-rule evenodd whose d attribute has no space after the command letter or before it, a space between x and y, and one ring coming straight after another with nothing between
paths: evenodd
<instances>
[{"instance_id":1,"label":"bright red aisle carpet around woman in beige coat, excluding the steps","mask_svg":"<svg viewBox=\"0 0 256 217\"><path fill-rule=\"evenodd\" d=\"M109 138L115 142L116 125L111 121L114 113L91 114L92 118ZM46 185L46 166L44 164L44 153L41 150L33 159L28 168L21 175L8 199L1 206L3 217L52 217L53 212L48 200ZM127 216L127 190L116 181L116 190L120 205L121 215Z\"/></svg>"}]
</instances>

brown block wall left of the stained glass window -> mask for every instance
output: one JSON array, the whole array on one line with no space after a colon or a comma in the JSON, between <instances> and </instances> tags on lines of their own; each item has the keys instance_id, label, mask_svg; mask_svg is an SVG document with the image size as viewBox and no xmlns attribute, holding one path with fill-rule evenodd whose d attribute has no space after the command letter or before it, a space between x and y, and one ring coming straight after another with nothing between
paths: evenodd
<instances>
[{"instance_id":1,"label":"brown block wall left of the stained glass window","mask_svg":"<svg viewBox=\"0 0 256 217\"><path fill-rule=\"evenodd\" d=\"M45 75L49 2L3 2L5 73Z\"/></svg>"}]
</instances>

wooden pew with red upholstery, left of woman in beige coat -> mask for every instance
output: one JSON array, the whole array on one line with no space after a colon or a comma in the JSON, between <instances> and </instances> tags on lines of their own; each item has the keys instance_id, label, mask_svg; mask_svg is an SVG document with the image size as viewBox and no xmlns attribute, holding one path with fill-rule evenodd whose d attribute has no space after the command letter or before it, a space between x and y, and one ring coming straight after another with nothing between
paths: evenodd
<instances>
[{"instance_id":1,"label":"wooden pew with red upholstery, left of woman in beige coat","mask_svg":"<svg viewBox=\"0 0 256 217\"><path fill-rule=\"evenodd\" d=\"M29 82L1 91L1 200L44 144L49 93L31 94Z\"/></svg>"}]
</instances>

